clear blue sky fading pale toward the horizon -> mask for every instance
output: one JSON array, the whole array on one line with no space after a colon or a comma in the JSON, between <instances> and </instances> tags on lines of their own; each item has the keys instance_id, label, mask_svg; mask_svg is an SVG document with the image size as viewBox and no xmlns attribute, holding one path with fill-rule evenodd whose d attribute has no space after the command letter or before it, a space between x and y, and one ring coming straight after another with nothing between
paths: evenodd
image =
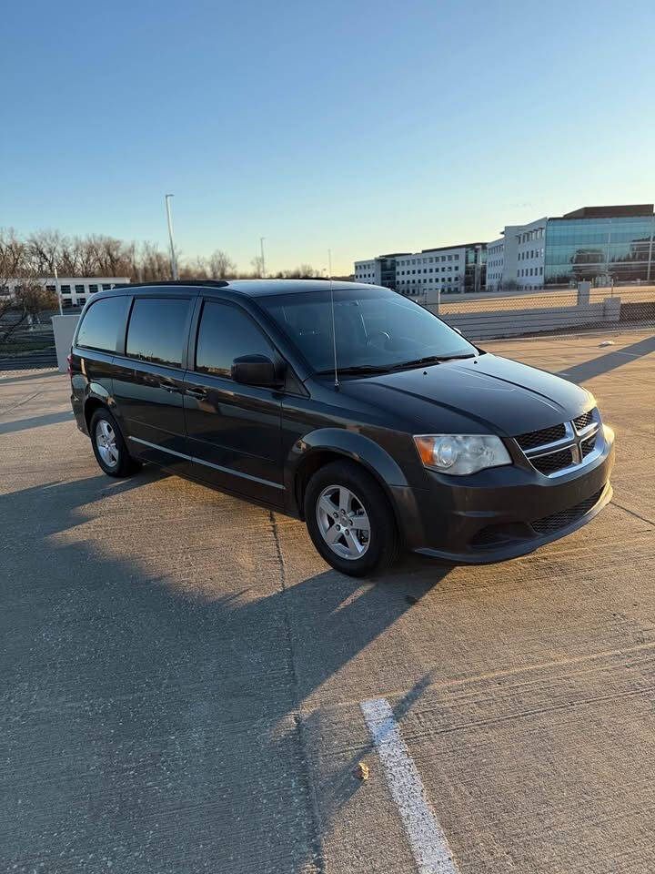
<instances>
[{"instance_id":1,"label":"clear blue sky fading pale toward the horizon","mask_svg":"<svg viewBox=\"0 0 655 874\"><path fill-rule=\"evenodd\" d=\"M12 4L0 226L335 272L655 198L652 0ZM4 89L5 90L5 89Z\"/></svg>"}]
</instances>

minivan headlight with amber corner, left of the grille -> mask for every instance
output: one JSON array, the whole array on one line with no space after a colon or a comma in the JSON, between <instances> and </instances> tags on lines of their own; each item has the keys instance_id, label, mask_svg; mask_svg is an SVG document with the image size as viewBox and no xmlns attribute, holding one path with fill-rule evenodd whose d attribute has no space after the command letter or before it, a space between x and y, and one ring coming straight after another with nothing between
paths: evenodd
<instances>
[{"instance_id":1,"label":"minivan headlight with amber corner, left of the grille","mask_svg":"<svg viewBox=\"0 0 655 874\"><path fill-rule=\"evenodd\" d=\"M503 442L491 434L421 434L414 442L425 466L439 473L464 476L511 464Z\"/></svg>"}]
</instances>

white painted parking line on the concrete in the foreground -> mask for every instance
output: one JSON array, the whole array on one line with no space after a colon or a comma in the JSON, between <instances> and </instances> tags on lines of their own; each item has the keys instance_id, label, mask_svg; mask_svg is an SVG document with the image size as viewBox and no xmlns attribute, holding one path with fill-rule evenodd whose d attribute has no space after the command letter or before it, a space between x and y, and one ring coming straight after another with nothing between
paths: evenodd
<instances>
[{"instance_id":1,"label":"white painted parking line on the concrete in the foreground","mask_svg":"<svg viewBox=\"0 0 655 874\"><path fill-rule=\"evenodd\" d=\"M420 874L458 874L448 840L439 825L414 759L386 698L362 701L364 718L384 766Z\"/></svg>"}]
</instances>

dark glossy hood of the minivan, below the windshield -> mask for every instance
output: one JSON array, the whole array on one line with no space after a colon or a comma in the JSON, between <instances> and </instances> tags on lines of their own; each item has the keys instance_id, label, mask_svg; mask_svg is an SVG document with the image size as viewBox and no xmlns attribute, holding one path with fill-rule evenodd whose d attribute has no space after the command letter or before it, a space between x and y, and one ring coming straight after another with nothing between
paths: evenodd
<instances>
[{"instance_id":1,"label":"dark glossy hood of the minivan, below the windshield","mask_svg":"<svg viewBox=\"0 0 655 874\"><path fill-rule=\"evenodd\" d=\"M489 353L344 381L342 391L401 413L423 433L469 427L515 436L569 421L595 402L572 382Z\"/></svg>"}]
</instances>

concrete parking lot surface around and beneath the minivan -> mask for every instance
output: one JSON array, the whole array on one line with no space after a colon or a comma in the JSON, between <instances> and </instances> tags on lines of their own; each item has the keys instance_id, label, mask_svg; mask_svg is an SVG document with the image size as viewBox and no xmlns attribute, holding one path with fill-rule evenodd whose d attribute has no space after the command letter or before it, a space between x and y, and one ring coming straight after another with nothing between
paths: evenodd
<instances>
[{"instance_id":1,"label":"concrete parking lot surface around and beneath the minivan","mask_svg":"<svg viewBox=\"0 0 655 874\"><path fill-rule=\"evenodd\" d=\"M65 375L0 375L0 870L652 871L655 338L602 339L486 347L596 394L598 519L365 581L277 513L106 477Z\"/></svg>"}]
</instances>

